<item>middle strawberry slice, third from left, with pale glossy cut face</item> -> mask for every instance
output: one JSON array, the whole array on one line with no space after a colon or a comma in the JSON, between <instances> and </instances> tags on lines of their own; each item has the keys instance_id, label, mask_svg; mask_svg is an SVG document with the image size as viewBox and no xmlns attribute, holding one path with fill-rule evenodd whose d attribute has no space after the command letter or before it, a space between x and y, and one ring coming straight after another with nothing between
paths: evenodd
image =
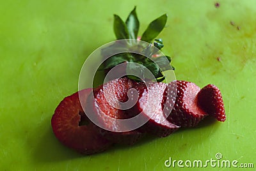
<instances>
[{"instance_id":1,"label":"middle strawberry slice, third from left, with pale glossy cut face","mask_svg":"<svg viewBox=\"0 0 256 171\"><path fill-rule=\"evenodd\" d=\"M162 82L143 82L134 86L139 93L138 111L147 117L148 122L141 128L159 137L166 137L176 131L179 126L166 120L163 114L163 98L166 85Z\"/></svg>"}]
</instances>

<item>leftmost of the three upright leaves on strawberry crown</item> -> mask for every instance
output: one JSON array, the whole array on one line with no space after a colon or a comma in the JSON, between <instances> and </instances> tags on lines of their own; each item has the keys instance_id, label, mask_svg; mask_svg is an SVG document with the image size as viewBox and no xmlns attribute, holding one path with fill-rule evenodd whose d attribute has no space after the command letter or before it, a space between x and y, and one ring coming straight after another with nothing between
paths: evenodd
<instances>
[{"instance_id":1,"label":"leftmost of the three upright leaves on strawberry crown","mask_svg":"<svg viewBox=\"0 0 256 171\"><path fill-rule=\"evenodd\" d=\"M116 39L129 39L129 32L124 21L118 15L114 15L114 18L114 32Z\"/></svg>"}]
</instances>

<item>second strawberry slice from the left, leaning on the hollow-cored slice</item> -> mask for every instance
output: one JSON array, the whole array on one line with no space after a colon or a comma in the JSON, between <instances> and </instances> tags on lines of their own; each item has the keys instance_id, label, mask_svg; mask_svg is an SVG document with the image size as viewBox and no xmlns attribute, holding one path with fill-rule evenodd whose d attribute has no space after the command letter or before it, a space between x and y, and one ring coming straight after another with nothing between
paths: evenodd
<instances>
[{"instance_id":1,"label":"second strawberry slice from the left, leaning on the hollow-cored slice","mask_svg":"<svg viewBox=\"0 0 256 171\"><path fill-rule=\"evenodd\" d=\"M120 124L115 120L129 119L134 116L134 113L126 107L129 105L127 102L129 100L128 90L135 84L137 83L125 77L111 80L93 91L95 98L92 101L93 111L97 115L97 121L104 125L104 128L107 128L107 130L102 129L100 132L112 142L134 144L143 135L138 130L120 132L119 130L123 130L123 128L125 130L129 125ZM108 116L115 118L114 121Z\"/></svg>"}]
</instances>

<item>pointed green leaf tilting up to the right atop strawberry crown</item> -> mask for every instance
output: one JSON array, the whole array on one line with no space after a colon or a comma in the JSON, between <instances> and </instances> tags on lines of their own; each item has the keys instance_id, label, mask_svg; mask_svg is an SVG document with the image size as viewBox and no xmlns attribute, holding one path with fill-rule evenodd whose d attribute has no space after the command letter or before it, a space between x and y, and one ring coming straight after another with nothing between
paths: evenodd
<instances>
[{"instance_id":1,"label":"pointed green leaf tilting up to the right atop strawberry crown","mask_svg":"<svg viewBox=\"0 0 256 171\"><path fill-rule=\"evenodd\" d=\"M164 14L156 20L150 22L146 31L142 34L141 40L147 41L148 43L154 40L154 38L156 38L156 36L158 36L158 34L164 29L166 21L167 15Z\"/></svg>"}]
</instances>

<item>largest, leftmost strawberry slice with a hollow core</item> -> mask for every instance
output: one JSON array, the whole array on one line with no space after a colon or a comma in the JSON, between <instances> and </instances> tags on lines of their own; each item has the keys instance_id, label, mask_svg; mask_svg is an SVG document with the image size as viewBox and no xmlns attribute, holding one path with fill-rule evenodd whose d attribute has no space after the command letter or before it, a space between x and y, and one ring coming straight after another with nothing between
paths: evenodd
<instances>
[{"instance_id":1,"label":"largest, leftmost strawberry slice with a hollow core","mask_svg":"<svg viewBox=\"0 0 256 171\"><path fill-rule=\"evenodd\" d=\"M86 103L92 89L80 91L81 103ZM100 135L98 128L86 117L74 93L64 98L52 115L52 130L60 142L83 154L93 154L107 149L112 143Z\"/></svg>"}]
</instances>

